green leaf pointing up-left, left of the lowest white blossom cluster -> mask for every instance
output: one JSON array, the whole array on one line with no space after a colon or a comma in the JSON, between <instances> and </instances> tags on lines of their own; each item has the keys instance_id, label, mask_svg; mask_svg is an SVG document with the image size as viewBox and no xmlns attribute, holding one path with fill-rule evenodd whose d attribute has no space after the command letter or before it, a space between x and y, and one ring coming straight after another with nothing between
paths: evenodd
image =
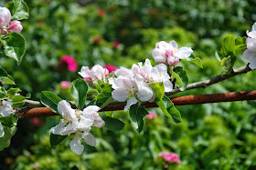
<instances>
[{"instance_id":1,"label":"green leaf pointing up-left, left of the lowest white blossom cluster","mask_svg":"<svg viewBox=\"0 0 256 170\"><path fill-rule=\"evenodd\" d=\"M41 103L50 108L53 112L58 113L57 105L62 100L58 95L49 91L41 92Z\"/></svg>"}]
</instances>

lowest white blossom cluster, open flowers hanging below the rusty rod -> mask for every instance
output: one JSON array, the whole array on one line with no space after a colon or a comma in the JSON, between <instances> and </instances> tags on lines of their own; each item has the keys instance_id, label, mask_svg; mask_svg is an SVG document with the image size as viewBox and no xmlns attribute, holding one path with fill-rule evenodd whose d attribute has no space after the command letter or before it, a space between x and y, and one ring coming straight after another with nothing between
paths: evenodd
<instances>
[{"instance_id":1,"label":"lowest white blossom cluster, open flowers hanging below the rusty rod","mask_svg":"<svg viewBox=\"0 0 256 170\"><path fill-rule=\"evenodd\" d=\"M54 135L70 135L75 133L75 137L70 142L70 148L73 153L81 155L84 145L81 144L81 138L91 146L96 145L93 135L91 135L91 126L102 127L105 122L101 119L98 111L101 109L96 105L90 105L83 111L72 109L66 100L62 100L58 104L58 112L63 119L49 132Z\"/></svg>"}]
</instances>

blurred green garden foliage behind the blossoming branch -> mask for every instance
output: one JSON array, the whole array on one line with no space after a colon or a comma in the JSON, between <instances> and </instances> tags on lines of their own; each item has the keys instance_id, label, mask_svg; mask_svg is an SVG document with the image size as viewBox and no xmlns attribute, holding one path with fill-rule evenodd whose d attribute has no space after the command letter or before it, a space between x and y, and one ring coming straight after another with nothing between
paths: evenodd
<instances>
[{"instance_id":1,"label":"blurred green garden foliage behind the blossoming branch","mask_svg":"<svg viewBox=\"0 0 256 170\"><path fill-rule=\"evenodd\" d=\"M7 1L1 1L4 6ZM69 98L61 81L80 75L59 67L62 55L73 56L79 65L131 67L152 58L159 41L176 40L191 46L204 68L180 63L189 82L219 75L224 67L215 51L226 35L243 36L256 21L255 0L25 0L30 16L22 22L27 53L21 65L1 57L0 64L13 75L16 85L38 100L50 90ZM100 39L97 41L96 39ZM114 46L114 42L120 45ZM246 65L241 56L235 67ZM206 89L178 95L197 95L254 90L255 71L239 75ZM162 151L180 156L181 164L169 169L256 169L256 102L243 101L177 106L183 122L174 125L158 109L146 120L144 133L136 134L127 113L114 112L125 122L120 132L93 129L98 145L85 145L82 155L69 149L70 136L51 149L50 127L60 117L20 120L10 147L0 152L1 169L163 169Z\"/></svg>"}]
</instances>

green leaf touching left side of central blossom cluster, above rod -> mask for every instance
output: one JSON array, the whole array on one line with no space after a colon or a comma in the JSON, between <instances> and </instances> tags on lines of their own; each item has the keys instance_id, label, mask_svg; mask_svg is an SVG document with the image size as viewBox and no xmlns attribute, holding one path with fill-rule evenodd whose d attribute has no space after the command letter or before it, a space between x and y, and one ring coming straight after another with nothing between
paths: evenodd
<instances>
[{"instance_id":1,"label":"green leaf touching left side of central blossom cluster, above rod","mask_svg":"<svg viewBox=\"0 0 256 170\"><path fill-rule=\"evenodd\" d=\"M108 87L103 89L101 91L101 94L97 95L96 105L98 105L102 109L106 105L109 105L112 101L112 87Z\"/></svg>"}]
</instances>

